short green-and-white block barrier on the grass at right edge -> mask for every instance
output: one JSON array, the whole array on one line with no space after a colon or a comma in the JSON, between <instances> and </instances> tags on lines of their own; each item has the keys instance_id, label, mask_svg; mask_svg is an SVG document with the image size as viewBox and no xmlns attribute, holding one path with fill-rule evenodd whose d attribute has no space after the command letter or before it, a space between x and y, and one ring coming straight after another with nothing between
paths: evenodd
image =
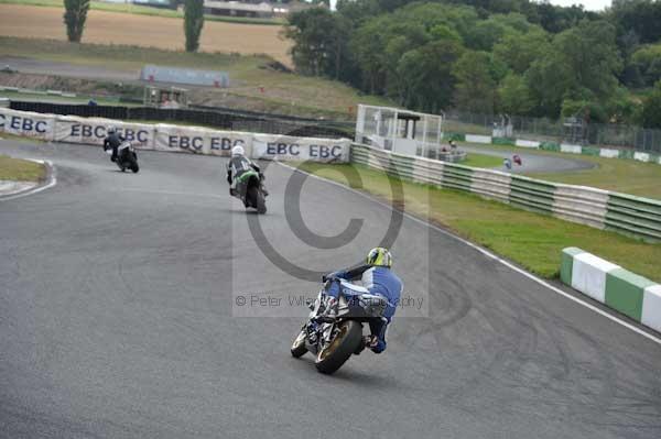
<instances>
[{"instance_id":1,"label":"short green-and-white block barrier on the grass at right edge","mask_svg":"<svg viewBox=\"0 0 661 439\"><path fill-rule=\"evenodd\" d=\"M573 246L562 251L560 278L593 299L661 331L661 285Z\"/></svg>"}]
</instances>

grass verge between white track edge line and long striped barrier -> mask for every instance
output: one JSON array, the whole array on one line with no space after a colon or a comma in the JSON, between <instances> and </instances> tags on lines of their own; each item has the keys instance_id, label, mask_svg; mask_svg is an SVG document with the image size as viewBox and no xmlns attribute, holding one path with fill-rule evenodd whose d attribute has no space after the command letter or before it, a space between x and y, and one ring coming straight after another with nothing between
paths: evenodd
<instances>
[{"instance_id":1,"label":"grass verge between white track edge line and long striped barrier","mask_svg":"<svg viewBox=\"0 0 661 439\"><path fill-rule=\"evenodd\" d=\"M633 273L661 282L661 244L648 244L615 232L516 209L473 194L405 180L402 182L403 199L393 200L388 176L361 165L305 163L297 166L398 206L405 206L408 212L449 229L542 277L557 277L562 249L578 246ZM359 179L347 179L345 175L351 174L340 173L349 167L357 172Z\"/></svg>"}]
</instances>

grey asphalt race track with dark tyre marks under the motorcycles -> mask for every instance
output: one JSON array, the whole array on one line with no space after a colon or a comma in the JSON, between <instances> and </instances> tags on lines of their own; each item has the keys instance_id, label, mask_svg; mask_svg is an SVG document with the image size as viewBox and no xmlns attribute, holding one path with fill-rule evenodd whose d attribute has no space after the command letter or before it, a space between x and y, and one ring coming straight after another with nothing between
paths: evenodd
<instances>
[{"instance_id":1,"label":"grey asphalt race track with dark tyre marks under the motorcycles","mask_svg":"<svg viewBox=\"0 0 661 439\"><path fill-rule=\"evenodd\" d=\"M402 311L386 353L333 376L291 358L305 310L241 317L237 298L314 294L292 273L378 243L391 212L358 194L305 182L312 232L364 220L316 249L285 197L300 174L275 164L258 218L228 197L224 158L142 152L133 175L90 146L0 153L51 160L58 179L0 200L2 438L661 437L660 344L408 218L395 268L427 317Z\"/></svg>"}]
</instances>

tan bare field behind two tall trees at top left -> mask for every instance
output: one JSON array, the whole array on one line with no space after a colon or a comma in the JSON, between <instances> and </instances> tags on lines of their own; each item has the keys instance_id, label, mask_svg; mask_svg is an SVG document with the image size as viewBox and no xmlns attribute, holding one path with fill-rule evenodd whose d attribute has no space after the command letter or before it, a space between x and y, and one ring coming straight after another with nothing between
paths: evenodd
<instances>
[{"instance_id":1,"label":"tan bare field behind two tall trees at top left","mask_svg":"<svg viewBox=\"0 0 661 439\"><path fill-rule=\"evenodd\" d=\"M0 4L0 35L66 41L63 11L59 8ZM86 43L184 50L182 19L89 11L85 28L83 41ZM288 54L291 44L280 37L281 29L207 21L202 31L201 51L266 54L291 66Z\"/></svg>"}]
</instances>

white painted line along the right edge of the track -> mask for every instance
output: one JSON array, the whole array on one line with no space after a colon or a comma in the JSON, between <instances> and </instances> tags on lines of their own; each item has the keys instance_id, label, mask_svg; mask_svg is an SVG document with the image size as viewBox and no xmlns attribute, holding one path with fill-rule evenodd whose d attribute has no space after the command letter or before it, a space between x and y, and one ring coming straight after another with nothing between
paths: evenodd
<instances>
[{"instance_id":1,"label":"white painted line along the right edge of the track","mask_svg":"<svg viewBox=\"0 0 661 439\"><path fill-rule=\"evenodd\" d=\"M314 174L310 174L308 172L301 171L301 169L299 169L299 168L296 168L294 166L286 165L286 164L284 164L282 162L279 162L279 161L274 161L274 162L278 163L280 166L290 168L290 169L292 169L294 172L300 172L300 173L303 173L303 174L307 174L308 176L311 176L313 178L316 178L318 180L322 180L322 182L325 182L325 183L328 183L328 184L332 184L332 185L335 185L335 186L339 186L339 187L344 188L345 190L349 190L349 191L351 191L354 194L358 194L358 195L360 195L364 198L372 200L373 202L377 202L378 205L381 205L381 206L387 207L388 209L392 210L392 206L390 206L389 204L383 202L383 201L381 201L379 199L376 199L375 197L370 196L369 194L361 193L360 190L356 190L356 189L354 189L351 187L343 185L342 183L333 182L333 180L329 180L329 179L316 176ZM487 257L489 257L491 260L500 262L502 265L507 266L508 268L513 270L514 272L517 272L517 273L519 273L519 274L528 277L531 281L537 282L538 284L540 284L542 286L545 286L546 288L551 289L552 292L557 293L559 295L564 296L564 297L568 298L570 300L573 300L573 301L575 301L575 303L577 303L579 305L583 305L584 307L586 307L586 308L588 308L588 309L590 309L590 310L593 310L593 311L595 311L595 312L597 312L597 314L599 314L599 315L602 315L602 316L604 316L604 317L606 317L606 318L615 321L616 323L619 323L619 325L624 326L625 328L628 328L628 329L632 330L633 332L637 332L637 333L639 333L639 334L648 338L649 340L653 341L657 344L661 344L661 339L660 338L658 338L658 337L655 337L655 336L653 336L653 334L651 334L651 333L649 333L647 331L643 331L642 329L637 328L636 326L633 326L633 325L631 325L631 323L629 323L629 322L627 322L625 320L621 320L618 317L611 315L610 312L607 312L607 311L605 311L603 309L599 309L596 306L594 306L594 305L592 305L592 304L589 304L587 301L581 300L578 297L575 297L575 296L573 296L573 295L571 295L568 293L563 292L562 289L560 289L560 288L557 288L557 287L549 284L546 281L544 281L544 279L535 276L532 273L528 273L525 270L520 268L520 267L513 265L509 261L503 260L502 257L500 257L500 256L491 253L490 251L488 251L486 249L483 249L481 246L479 246L479 245L477 245L477 244L475 244L475 243L473 243L470 241L467 241L467 240L465 240L465 239L463 239L460 237L457 237L456 234L451 233L447 230L441 229L440 227L436 227L436 226L434 226L434 224L432 224L432 223L430 223L427 221L423 221L420 218L416 218L416 217L412 216L411 213L402 211L402 215L404 217L407 217L408 219L410 219L410 220L413 220L413 221L415 221L415 222L418 222L420 224L423 224L425 227L432 228L432 229L436 230L437 232L441 232L441 233L445 234L446 237L451 237L451 238L453 238L453 239L455 239L455 240L457 240L457 241L459 241L459 242L462 242L462 243L464 243L464 244L466 244L466 245L468 245L468 246L477 250L478 252L480 252L485 256L487 256Z\"/></svg>"}]
</instances>

